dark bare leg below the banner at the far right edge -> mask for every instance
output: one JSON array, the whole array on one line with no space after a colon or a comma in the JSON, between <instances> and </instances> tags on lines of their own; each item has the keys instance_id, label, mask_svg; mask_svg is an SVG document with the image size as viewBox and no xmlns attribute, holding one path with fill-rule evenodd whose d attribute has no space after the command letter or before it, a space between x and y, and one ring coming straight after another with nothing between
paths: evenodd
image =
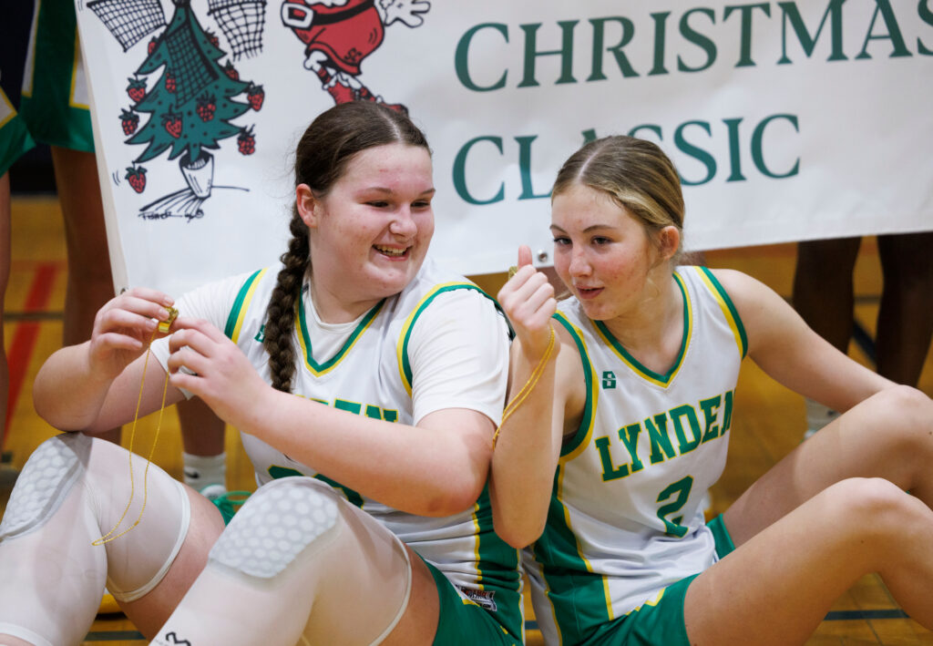
<instances>
[{"instance_id":1,"label":"dark bare leg below the banner at the far right edge","mask_svg":"<svg viewBox=\"0 0 933 646\"><path fill-rule=\"evenodd\" d=\"M916 386L933 338L933 232L879 235L878 373Z\"/></svg>"}]
</instances>

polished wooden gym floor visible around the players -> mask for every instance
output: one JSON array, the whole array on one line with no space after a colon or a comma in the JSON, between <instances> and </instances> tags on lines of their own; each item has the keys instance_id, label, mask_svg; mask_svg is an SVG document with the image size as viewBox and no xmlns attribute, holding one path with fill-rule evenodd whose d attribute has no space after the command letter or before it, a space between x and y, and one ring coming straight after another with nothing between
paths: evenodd
<instances>
[{"instance_id":1,"label":"polished wooden gym floor visible around the players","mask_svg":"<svg viewBox=\"0 0 933 646\"><path fill-rule=\"evenodd\" d=\"M3 451L7 461L20 469L35 446L54 433L33 410L31 384L43 360L59 347L65 285L65 251L62 217L52 197L17 198L13 201L12 267L7 288L7 320L4 333L10 364L9 424ZM731 267L752 274L778 293L790 294L795 249L793 245L762 246L710 252L711 267ZM881 273L874 241L863 243L856 265L856 320L870 335L881 292ZM479 282L493 290L501 277ZM870 365L857 344L850 354ZM933 354L933 353L931 353ZM921 389L933 394L933 357L927 357ZM163 421L155 461L181 476L181 440L174 414ZM745 487L771 467L798 442L804 429L800 397L764 376L745 361L740 377L732 424L731 453L726 472L713 490L714 512L725 510ZM141 421L135 448L147 452L155 430L154 416ZM123 443L130 440L124 427ZM227 433L228 485L231 489L255 488L249 460L235 432ZM2 474L0 474L2 477ZM8 489L0 486L0 513ZM804 546L805 547L805 546ZM534 616L528 608L528 643L541 644ZM122 615L99 615L86 646L145 643ZM754 643L754 636L749 636ZM864 577L840 598L819 626L809 646L868 645L913 646L933 644L933 633L913 622L898 609L877 576Z\"/></svg>"}]
</instances>

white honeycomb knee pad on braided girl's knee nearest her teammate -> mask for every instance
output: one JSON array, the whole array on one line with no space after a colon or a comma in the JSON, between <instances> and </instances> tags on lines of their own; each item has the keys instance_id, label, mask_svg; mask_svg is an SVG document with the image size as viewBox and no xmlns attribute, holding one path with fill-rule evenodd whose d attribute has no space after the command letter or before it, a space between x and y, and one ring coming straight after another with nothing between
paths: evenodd
<instances>
[{"instance_id":1,"label":"white honeycomb knee pad on braided girl's knee nearest her teammate","mask_svg":"<svg viewBox=\"0 0 933 646\"><path fill-rule=\"evenodd\" d=\"M334 527L336 494L310 478L282 478L259 488L230 521L210 560L270 579Z\"/></svg>"}]
</instances>

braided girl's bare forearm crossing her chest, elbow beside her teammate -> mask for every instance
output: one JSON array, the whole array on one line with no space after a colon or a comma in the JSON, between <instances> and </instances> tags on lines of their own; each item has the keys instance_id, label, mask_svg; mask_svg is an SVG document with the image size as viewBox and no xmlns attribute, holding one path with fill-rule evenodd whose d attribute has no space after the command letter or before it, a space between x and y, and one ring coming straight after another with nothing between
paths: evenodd
<instances>
[{"instance_id":1,"label":"braided girl's bare forearm crossing her chest, elbow beside her teammate","mask_svg":"<svg viewBox=\"0 0 933 646\"><path fill-rule=\"evenodd\" d=\"M491 304L488 310L487 316L499 318ZM200 396L230 424L328 478L405 512L451 515L469 509L479 498L494 430L487 414L457 407L461 400L456 397L449 408L428 408L432 412L415 426L341 411L273 389L240 349L210 323L179 317L176 325L180 330L169 344L171 383ZM437 328L434 321L422 331ZM501 347L504 362L508 343L504 324L498 323L494 330L502 339L490 343ZM472 348L474 339L470 334L461 343ZM416 359L412 363L412 386L417 391L421 363ZM178 372L181 366L196 374ZM470 364L462 372L477 371ZM504 375L501 380L496 403L500 411Z\"/></svg>"}]
</instances>

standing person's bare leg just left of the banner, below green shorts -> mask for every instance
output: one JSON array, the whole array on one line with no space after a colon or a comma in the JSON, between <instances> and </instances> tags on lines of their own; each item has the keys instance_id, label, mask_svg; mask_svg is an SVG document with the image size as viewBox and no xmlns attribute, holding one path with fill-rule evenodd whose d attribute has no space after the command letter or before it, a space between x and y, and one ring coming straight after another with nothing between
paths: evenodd
<instances>
[{"instance_id":1,"label":"standing person's bare leg just left of the banner, below green shorts","mask_svg":"<svg viewBox=\"0 0 933 646\"><path fill-rule=\"evenodd\" d=\"M94 153L57 146L51 153L68 253L62 342L75 345L91 338L97 310L114 297L114 281ZM120 429L96 437L119 443Z\"/></svg>"}]
</instances>

